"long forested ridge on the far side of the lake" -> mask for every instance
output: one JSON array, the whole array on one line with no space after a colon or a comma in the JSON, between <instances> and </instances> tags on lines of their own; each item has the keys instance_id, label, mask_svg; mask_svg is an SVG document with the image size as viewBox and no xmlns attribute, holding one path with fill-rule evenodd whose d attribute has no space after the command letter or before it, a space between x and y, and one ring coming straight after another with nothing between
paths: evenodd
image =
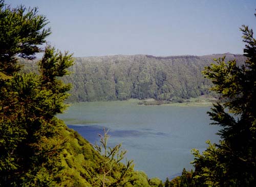
<instances>
[{"instance_id":1,"label":"long forested ridge on the far side of the lake","mask_svg":"<svg viewBox=\"0 0 256 187\"><path fill-rule=\"evenodd\" d=\"M225 54L226 60L245 61L242 55ZM202 76L205 66L223 54L207 56L116 55L75 58L68 101L148 99L181 102L209 93L211 83ZM30 68L33 62L30 63ZM27 64L28 65L28 64ZM27 69L29 71L29 69Z\"/></svg>"}]
</instances>

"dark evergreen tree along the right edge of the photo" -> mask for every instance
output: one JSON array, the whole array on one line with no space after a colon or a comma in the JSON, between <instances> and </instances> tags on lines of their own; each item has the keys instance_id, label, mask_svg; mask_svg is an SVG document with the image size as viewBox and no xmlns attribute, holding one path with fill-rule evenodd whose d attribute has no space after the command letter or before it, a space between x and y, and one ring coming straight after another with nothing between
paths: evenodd
<instances>
[{"instance_id":1,"label":"dark evergreen tree along the right edge of the photo","mask_svg":"<svg viewBox=\"0 0 256 187\"><path fill-rule=\"evenodd\" d=\"M256 16L256 14L255 14ZM205 68L224 103L216 103L208 114L214 125L221 126L219 144L207 142L202 154L194 150L197 186L254 186L256 184L256 40L248 26L242 26L244 65L236 60Z\"/></svg>"}]
</instances>

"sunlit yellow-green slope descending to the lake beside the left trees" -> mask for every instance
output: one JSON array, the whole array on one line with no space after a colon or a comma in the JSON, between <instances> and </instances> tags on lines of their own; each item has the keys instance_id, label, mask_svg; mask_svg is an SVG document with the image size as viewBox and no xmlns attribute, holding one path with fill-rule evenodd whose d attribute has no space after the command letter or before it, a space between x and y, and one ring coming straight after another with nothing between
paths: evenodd
<instances>
[{"instance_id":1,"label":"sunlit yellow-green slope descending to the lake beside the left trees","mask_svg":"<svg viewBox=\"0 0 256 187\"><path fill-rule=\"evenodd\" d=\"M60 154L63 170L58 176L55 176L59 180L58 186L100 186L99 183L94 183L91 174L94 172L96 177L102 176L101 171L98 170L99 160L102 156L76 131L69 129L61 121L59 121L59 124L62 125L59 127L60 137L58 139L65 139L66 145ZM107 180L114 180L113 177L118 176L122 168L122 163L116 165ZM124 186L150 186L148 184L150 180L143 172L132 169L130 175L130 181Z\"/></svg>"}]
</instances>

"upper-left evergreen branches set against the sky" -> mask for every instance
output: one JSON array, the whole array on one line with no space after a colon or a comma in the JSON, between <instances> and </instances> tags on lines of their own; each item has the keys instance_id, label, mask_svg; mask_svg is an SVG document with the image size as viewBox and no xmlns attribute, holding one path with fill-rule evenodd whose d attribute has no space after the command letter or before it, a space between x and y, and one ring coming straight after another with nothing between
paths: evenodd
<instances>
[{"instance_id":1,"label":"upper-left evergreen branches set against the sky","mask_svg":"<svg viewBox=\"0 0 256 187\"><path fill-rule=\"evenodd\" d=\"M19 70L15 55L34 59L40 52L38 44L45 42L51 33L44 29L47 24L45 16L37 15L37 9L24 6L11 9L0 1L0 72L12 75Z\"/></svg>"}]
</instances>

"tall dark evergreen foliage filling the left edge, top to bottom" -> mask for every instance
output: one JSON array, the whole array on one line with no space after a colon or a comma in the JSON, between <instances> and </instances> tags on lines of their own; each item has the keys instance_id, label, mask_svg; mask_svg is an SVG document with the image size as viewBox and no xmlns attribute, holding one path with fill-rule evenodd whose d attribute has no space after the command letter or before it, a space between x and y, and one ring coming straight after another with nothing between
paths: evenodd
<instances>
[{"instance_id":1,"label":"tall dark evergreen foliage filling the left edge, top to bottom","mask_svg":"<svg viewBox=\"0 0 256 187\"><path fill-rule=\"evenodd\" d=\"M0 1L0 186L56 186L65 139L54 116L69 96L72 56L46 46L39 73L20 73L18 58L34 59L50 29L35 8L11 9Z\"/></svg>"}]
</instances>

